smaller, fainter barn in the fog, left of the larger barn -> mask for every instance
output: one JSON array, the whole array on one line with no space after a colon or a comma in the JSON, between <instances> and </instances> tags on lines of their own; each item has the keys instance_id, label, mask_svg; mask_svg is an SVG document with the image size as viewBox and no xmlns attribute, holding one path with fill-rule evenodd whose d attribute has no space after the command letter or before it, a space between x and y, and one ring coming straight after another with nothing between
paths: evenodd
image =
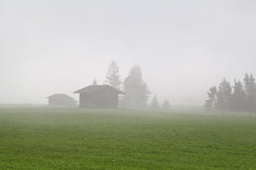
<instances>
[{"instance_id":1,"label":"smaller, fainter barn in the fog, left of the larger barn","mask_svg":"<svg viewBox=\"0 0 256 170\"><path fill-rule=\"evenodd\" d=\"M54 94L46 98L49 99L48 105L55 107L76 107L78 102L65 94Z\"/></svg>"}]
</instances>

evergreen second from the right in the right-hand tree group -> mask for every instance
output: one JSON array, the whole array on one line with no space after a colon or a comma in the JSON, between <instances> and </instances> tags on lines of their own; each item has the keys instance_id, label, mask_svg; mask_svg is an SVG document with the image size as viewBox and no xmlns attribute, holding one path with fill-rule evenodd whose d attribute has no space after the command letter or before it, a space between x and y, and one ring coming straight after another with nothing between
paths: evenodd
<instances>
[{"instance_id":1,"label":"evergreen second from the right in the right-hand tree group","mask_svg":"<svg viewBox=\"0 0 256 170\"><path fill-rule=\"evenodd\" d=\"M234 91L232 94L232 110L238 113L244 109L245 105L245 90L240 80L234 79Z\"/></svg>"}]
</instances>

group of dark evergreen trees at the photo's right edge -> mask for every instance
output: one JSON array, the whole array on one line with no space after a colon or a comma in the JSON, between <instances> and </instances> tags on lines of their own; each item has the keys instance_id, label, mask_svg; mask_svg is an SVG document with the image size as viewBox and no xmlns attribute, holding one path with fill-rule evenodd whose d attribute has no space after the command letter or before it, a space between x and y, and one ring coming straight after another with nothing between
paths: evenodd
<instances>
[{"instance_id":1,"label":"group of dark evergreen trees at the photo's right edge","mask_svg":"<svg viewBox=\"0 0 256 170\"><path fill-rule=\"evenodd\" d=\"M209 99L205 100L206 111L255 112L256 111L256 83L254 75L246 72L243 82L234 79L234 85L223 78L218 86L210 87L207 92Z\"/></svg>"}]
</instances>

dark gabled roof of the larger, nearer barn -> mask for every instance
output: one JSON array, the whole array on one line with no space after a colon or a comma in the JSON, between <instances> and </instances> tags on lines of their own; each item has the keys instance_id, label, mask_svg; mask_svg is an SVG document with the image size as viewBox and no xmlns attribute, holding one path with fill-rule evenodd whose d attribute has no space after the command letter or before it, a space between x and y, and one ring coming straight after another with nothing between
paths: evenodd
<instances>
[{"instance_id":1,"label":"dark gabled roof of the larger, nearer barn","mask_svg":"<svg viewBox=\"0 0 256 170\"><path fill-rule=\"evenodd\" d=\"M125 94L122 91L117 90L116 88L109 86L109 85L90 85L80 90L74 92L74 94L93 94L94 92L100 91L104 88L110 88L113 91L117 92L118 94Z\"/></svg>"}]
</instances>

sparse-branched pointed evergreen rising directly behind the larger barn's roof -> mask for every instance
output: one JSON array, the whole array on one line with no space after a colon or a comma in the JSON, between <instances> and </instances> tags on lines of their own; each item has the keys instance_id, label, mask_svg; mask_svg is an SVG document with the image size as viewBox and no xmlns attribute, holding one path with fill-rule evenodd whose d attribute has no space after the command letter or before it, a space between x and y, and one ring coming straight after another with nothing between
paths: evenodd
<instances>
[{"instance_id":1,"label":"sparse-branched pointed evergreen rising directly behind the larger barn's roof","mask_svg":"<svg viewBox=\"0 0 256 170\"><path fill-rule=\"evenodd\" d=\"M117 66L117 63L115 61L112 61L112 63L110 63L105 77L105 84L109 84L110 86L117 88L118 90L121 89L122 79L121 75L119 74L119 67Z\"/></svg>"}]
</instances>

